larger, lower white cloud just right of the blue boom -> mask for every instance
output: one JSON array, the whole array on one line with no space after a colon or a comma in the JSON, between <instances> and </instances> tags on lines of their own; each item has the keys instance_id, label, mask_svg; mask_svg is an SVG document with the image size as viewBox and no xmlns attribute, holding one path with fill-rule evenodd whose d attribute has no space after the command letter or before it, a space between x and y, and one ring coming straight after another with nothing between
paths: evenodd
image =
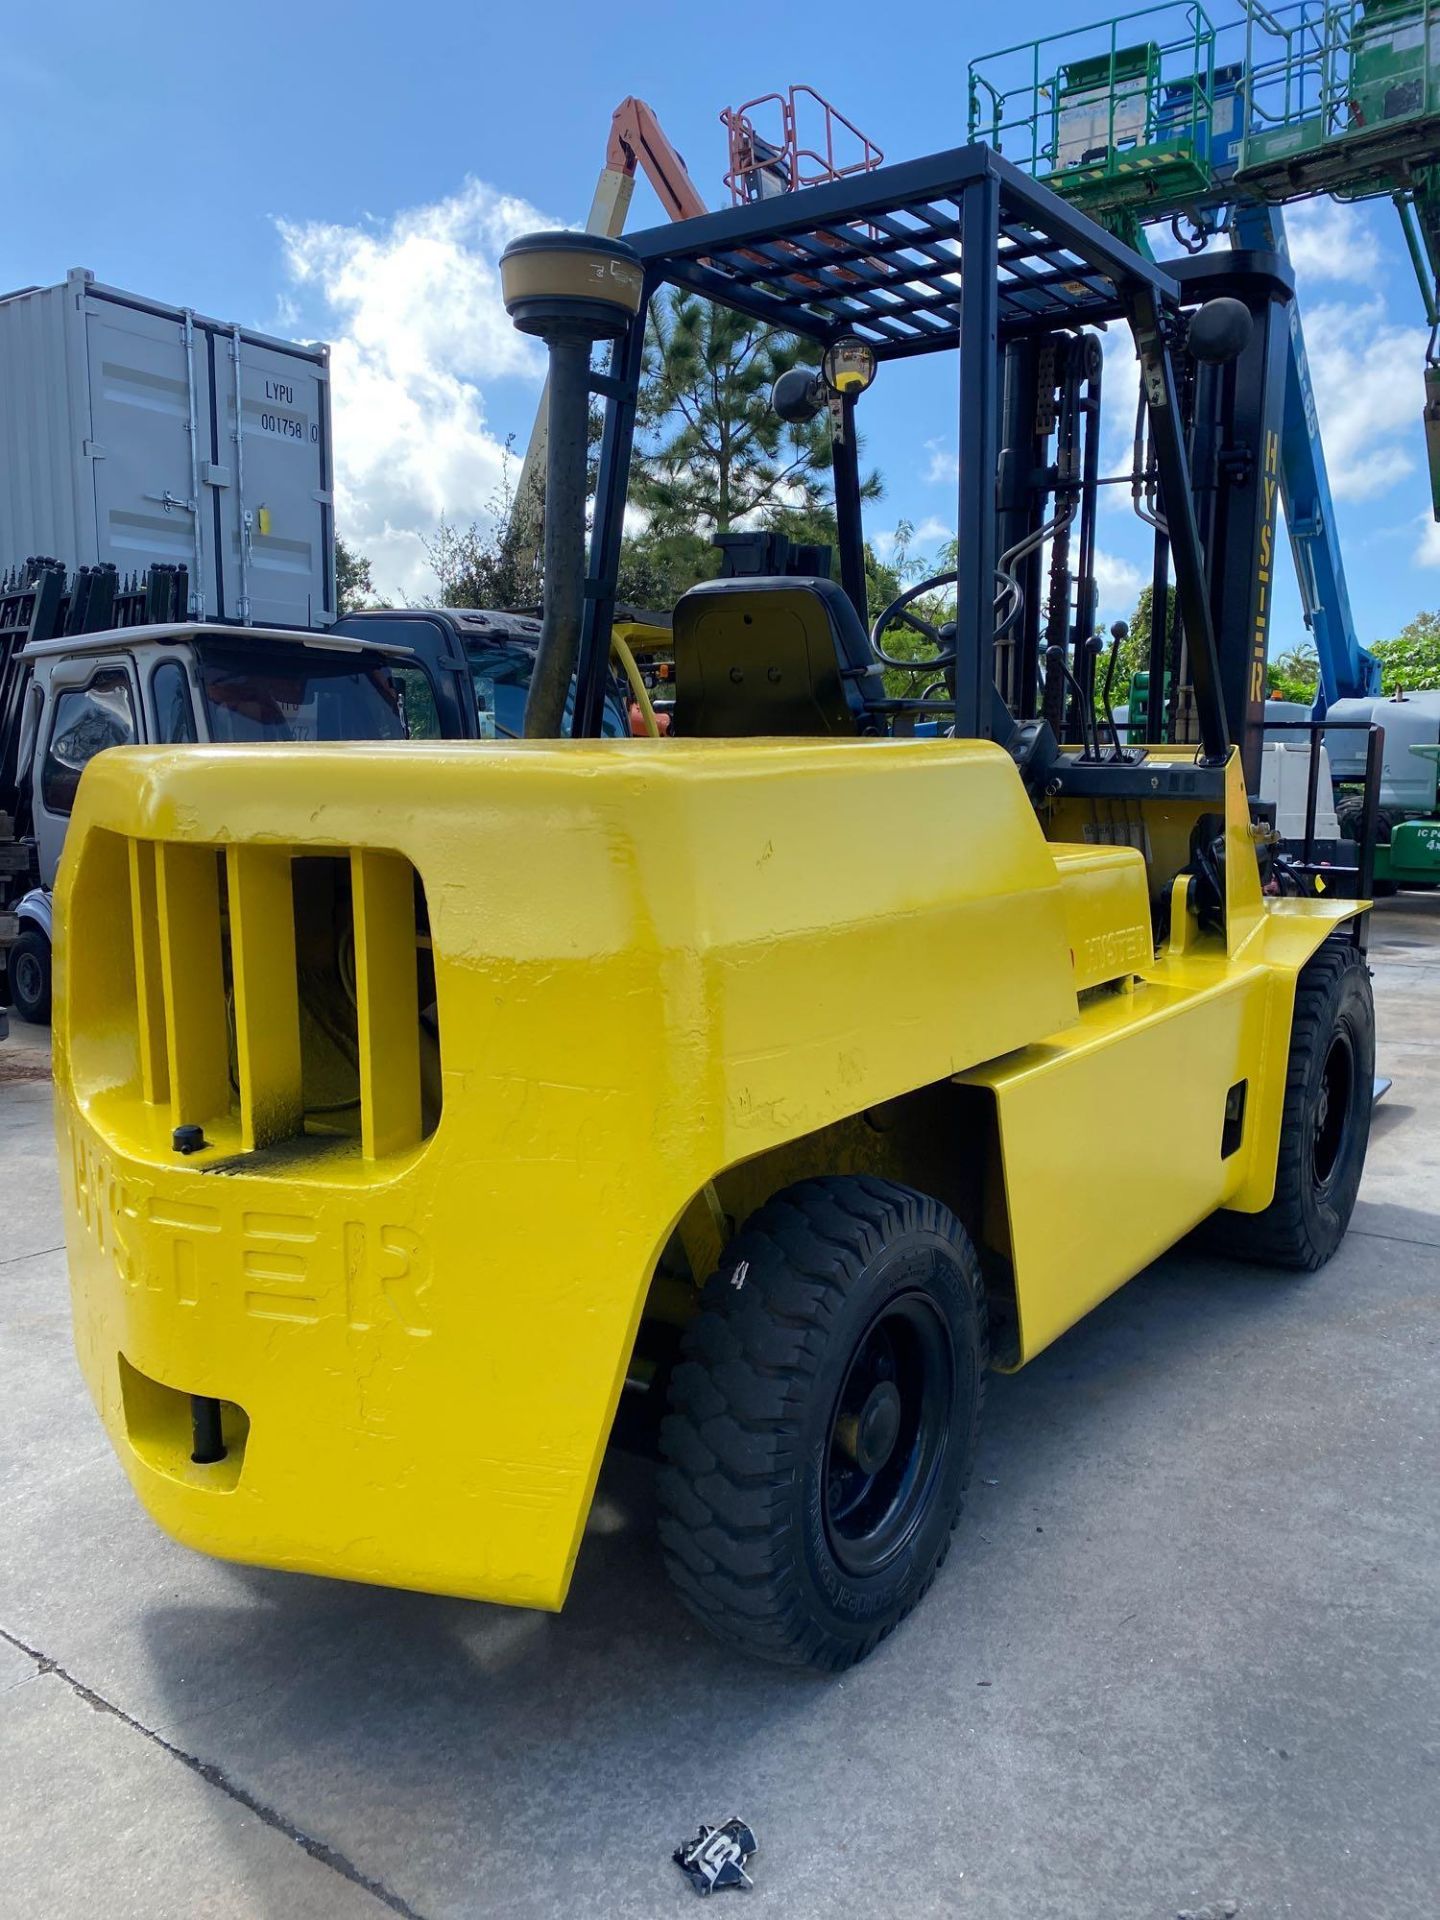
<instances>
[{"instance_id":1,"label":"larger, lower white cloud just right of the blue boom","mask_svg":"<svg viewBox=\"0 0 1440 1920\"><path fill-rule=\"evenodd\" d=\"M1427 334L1396 326L1382 300L1306 315L1306 353L1336 499L1375 499L1415 468Z\"/></svg>"}]
</instances>

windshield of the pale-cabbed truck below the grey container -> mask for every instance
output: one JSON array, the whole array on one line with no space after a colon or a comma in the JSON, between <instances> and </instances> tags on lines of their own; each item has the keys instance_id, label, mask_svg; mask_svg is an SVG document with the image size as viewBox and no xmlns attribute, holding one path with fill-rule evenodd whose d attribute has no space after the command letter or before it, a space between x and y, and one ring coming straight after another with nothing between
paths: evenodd
<instances>
[{"instance_id":1,"label":"windshield of the pale-cabbed truck below the grey container","mask_svg":"<svg viewBox=\"0 0 1440 1920\"><path fill-rule=\"evenodd\" d=\"M227 743L405 739L405 705L376 655L200 649L209 737Z\"/></svg>"}]
</instances>

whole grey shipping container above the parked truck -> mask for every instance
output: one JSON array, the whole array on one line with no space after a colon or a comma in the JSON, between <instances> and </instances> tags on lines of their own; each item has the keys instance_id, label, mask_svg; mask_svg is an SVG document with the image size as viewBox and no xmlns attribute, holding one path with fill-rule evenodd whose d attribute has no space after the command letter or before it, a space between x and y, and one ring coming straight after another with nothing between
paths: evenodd
<instances>
[{"instance_id":1,"label":"whole grey shipping container above the parked truck","mask_svg":"<svg viewBox=\"0 0 1440 1920\"><path fill-rule=\"evenodd\" d=\"M0 566L180 563L196 620L323 626L332 499L328 348L83 267L0 298Z\"/></svg>"}]
</instances>

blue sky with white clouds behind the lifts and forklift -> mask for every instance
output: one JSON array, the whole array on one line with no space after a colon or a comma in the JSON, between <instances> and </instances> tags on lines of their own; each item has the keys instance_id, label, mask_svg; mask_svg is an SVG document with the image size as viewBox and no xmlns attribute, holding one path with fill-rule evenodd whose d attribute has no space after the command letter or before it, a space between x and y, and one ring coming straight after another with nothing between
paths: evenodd
<instances>
[{"instance_id":1,"label":"blue sky with white clouds behind the lifts and forklift","mask_svg":"<svg viewBox=\"0 0 1440 1920\"><path fill-rule=\"evenodd\" d=\"M0 280L84 265L223 319L332 340L342 530L384 588L420 593L420 536L442 511L484 513L505 436L522 444L534 417L540 363L499 307L495 255L524 227L584 219L618 100L657 108L718 205L722 106L806 81L904 159L964 140L972 56L1071 25L1054 0L1023 21L933 0L912 0L902 21L874 0L12 10ZM641 188L632 227L659 217ZM1352 601L1361 637L1382 637L1440 603L1419 296L1386 204L1319 204L1296 215L1292 242ZM1129 355L1110 367L1129 392ZM866 407L885 478L870 526L883 536L904 516L933 549L954 528L954 374L933 361L883 378ZM1114 409L1119 444L1127 409ZM1116 618L1144 566L1121 501L1100 543L1102 612ZM1273 651L1298 637L1298 603L1283 593Z\"/></svg>"}]
</instances>

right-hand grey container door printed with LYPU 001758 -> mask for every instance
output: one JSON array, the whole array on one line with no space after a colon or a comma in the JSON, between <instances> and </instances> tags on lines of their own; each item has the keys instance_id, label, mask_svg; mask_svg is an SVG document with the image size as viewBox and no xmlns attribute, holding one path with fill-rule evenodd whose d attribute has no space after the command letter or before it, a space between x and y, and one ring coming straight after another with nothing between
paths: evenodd
<instances>
[{"instance_id":1,"label":"right-hand grey container door printed with LYPU 001758","mask_svg":"<svg viewBox=\"0 0 1440 1920\"><path fill-rule=\"evenodd\" d=\"M319 626L334 618L326 369L240 336L234 442L234 334L215 334L225 584L230 616L252 626Z\"/></svg>"}]
</instances>

